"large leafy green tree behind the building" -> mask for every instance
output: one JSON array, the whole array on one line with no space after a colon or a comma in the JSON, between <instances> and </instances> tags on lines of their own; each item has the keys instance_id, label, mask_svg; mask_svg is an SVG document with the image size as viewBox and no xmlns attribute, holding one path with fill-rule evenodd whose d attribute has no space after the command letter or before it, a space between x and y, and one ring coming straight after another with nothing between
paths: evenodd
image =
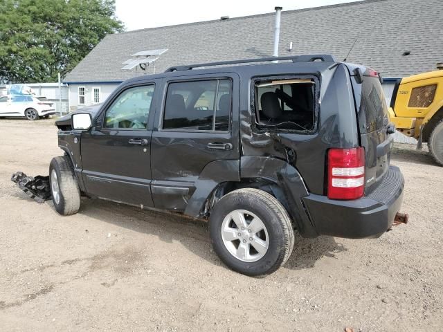
<instances>
[{"instance_id":1,"label":"large leafy green tree behind the building","mask_svg":"<svg viewBox=\"0 0 443 332\"><path fill-rule=\"evenodd\" d=\"M0 82L54 82L123 30L115 0L0 0Z\"/></svg>"}]
</instances>

